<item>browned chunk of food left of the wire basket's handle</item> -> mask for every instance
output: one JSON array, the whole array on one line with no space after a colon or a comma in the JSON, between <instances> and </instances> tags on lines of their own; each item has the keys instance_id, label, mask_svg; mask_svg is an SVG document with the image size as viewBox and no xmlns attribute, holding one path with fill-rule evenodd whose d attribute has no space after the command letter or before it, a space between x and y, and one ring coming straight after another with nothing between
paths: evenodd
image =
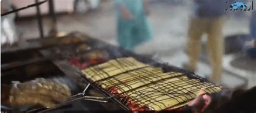
<instances>
[{"instance_id":1,"label":"browned chunk of food left of the wire basket's handle","mask_svg":"<svg viewBox=\"0 0 256 113\"><path fill-rule=\"evenodd\" d=\"M2 95L9 98L5 99L3 103L5 103L5 106L13 108L37 105L53 108L56 103L64 102L71 96L68 86L51 79L38 78L23 83L16 82L9 88L10 92L2 93ZM6 94L9 96L6 96Z\"/></svg>"}]
</instances>

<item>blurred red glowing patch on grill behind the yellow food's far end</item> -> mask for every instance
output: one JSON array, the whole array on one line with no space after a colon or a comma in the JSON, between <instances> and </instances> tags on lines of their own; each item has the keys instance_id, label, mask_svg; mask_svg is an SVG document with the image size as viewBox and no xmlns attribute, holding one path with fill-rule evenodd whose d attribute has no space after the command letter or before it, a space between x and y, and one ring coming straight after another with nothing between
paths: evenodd
<instances>
[{"instance_id":1,"label":"blurred red glowing patch on grill behind the yellow food's far end","mask_svg":"<svg viewBox=\"0 0 256 113\"><path fill-rule=\"evenodd\" d=\"M85 69L88 66L104 63L106 58L109 57L109 53L104 50L95 50L88 52L82 56L70 57L68 59L69 64L78 67L79 69Z\"/></svg>"}]
</instances>

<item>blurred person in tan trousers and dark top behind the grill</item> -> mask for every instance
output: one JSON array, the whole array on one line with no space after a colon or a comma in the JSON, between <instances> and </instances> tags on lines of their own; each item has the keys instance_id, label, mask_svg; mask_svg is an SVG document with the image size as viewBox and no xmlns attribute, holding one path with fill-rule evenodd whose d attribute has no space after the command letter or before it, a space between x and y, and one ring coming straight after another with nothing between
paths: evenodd
<instances>
[{"instance_id":1,"label":"blurred person in tan trousers and dark top behind the grill","mask_svg":"<svg viewBox=\"0 0 256 113\"><path fill-rule=\"evenodd\" d=\"M201 36L207 34L207 56L212 68L210 80L220 84L224 37L222 29L225 22L226 1L193 0L194 14L188 28L187 54L190 59L185 66L190 71L197 69L201 49Z\"/></svg>"}]
</instances>

